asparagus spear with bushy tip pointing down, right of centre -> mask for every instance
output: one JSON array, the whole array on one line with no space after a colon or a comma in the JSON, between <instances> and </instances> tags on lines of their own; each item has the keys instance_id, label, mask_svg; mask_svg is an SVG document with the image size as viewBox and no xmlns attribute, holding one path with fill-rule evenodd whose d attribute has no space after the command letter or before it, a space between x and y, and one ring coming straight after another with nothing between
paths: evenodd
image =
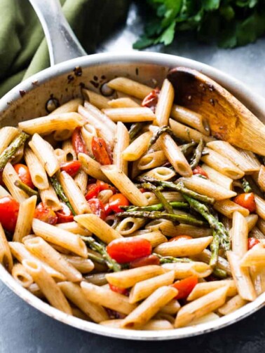
<instances>
[{"instance_id":1,"label":"asparagus spear with bushy tip pointing down, right of centre","mask_svg":"<svg viewBox=\"0 0 265 353\"><path fill-rule=\"evenodd\" d=\"M218 237L219 237L219 242L222 245L223 249L229 250L230 249L230 240L229 240L229 233L224 228L224 224L219 222L215 216L213 216L210 213L210 210L206 205L203 205L201 202L198 202L198 200L194 200L193 198L190 198L187 195L183 195L184 199L189 202L189 205L191 208L195 209L203 218L208 221L210 224L210 227L214 230L216 230Z\"/></svg>"}]
</instances>

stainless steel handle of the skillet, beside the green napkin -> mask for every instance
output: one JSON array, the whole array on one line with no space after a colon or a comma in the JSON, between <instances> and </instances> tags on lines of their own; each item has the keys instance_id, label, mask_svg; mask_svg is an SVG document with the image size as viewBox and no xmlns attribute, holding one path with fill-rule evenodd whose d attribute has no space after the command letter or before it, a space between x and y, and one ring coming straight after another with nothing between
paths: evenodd
<instances>
[{"instance_id":1,"label":"stainless steel handle of the skillet, beside the green napkin","mask_svg":"<svg viewBox=\"0 0 265 353\"><path fill-rule=\"evenodd\" d=\"M50 66L87 55L62 13L59 0L29 0L46 36Z\"/></svg>"}]
</instances>

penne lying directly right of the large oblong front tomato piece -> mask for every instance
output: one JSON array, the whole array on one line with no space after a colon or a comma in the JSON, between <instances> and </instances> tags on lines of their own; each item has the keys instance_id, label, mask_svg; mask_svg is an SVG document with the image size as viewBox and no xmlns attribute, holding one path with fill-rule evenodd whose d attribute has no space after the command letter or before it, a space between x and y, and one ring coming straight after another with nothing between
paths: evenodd
<instances>
[{"instance_id":1,"label":"penne lying directly right of the large oblong front tomato piece","mask_svg":"<svg viewBox=\"0 0 265 353\"><path fill-rule=\"evenodd\" d=\"M178 242L165 242L154 249L156 254L162 256L193 256L200 254L212 242L212 237L200 237L197 239L182 239Z\"/></svg>"}]
</instances>

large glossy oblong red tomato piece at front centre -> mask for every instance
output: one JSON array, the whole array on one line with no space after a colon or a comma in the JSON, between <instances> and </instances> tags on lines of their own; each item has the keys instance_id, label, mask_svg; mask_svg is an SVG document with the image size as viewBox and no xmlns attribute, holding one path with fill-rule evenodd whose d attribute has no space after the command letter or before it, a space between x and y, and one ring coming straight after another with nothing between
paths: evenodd
<instances>
[{"instance_id":1,"label":"large glossy oblong red tomato piece at front centre","mask_svg":"<svg viewBox=\"0 0 265 353\"><path fill-rule=\"evenodd\" d=\"M151 243L137 237L113 240L107 245L107 253L118 263L128 263L151 254Z\"/></svg>"}]
</instances>

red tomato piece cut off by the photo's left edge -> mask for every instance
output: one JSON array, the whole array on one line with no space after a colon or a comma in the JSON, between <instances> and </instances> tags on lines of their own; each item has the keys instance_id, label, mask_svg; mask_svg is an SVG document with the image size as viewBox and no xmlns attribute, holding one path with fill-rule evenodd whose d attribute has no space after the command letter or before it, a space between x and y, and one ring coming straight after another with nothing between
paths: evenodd
<instances>
[{"instance_id":1,"label":"red tomato piece cut off by the photo's left edge","mask_svg":"<svg viewBox=\"0 0 265 353\"><path fill-rule=\"evenodd\" d=\"M13 233L18 220L20 204L11 196L0 198L0 223L5 230Z\"/></svg>"}]
</instances>

